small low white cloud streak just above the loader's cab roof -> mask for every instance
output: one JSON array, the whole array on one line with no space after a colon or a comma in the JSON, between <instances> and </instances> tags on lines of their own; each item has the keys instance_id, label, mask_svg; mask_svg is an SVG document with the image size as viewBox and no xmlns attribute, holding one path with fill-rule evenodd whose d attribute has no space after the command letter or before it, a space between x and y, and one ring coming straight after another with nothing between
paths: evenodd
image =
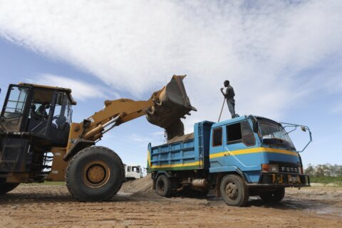
<instances>
[{"instance_id":1,"label":"small low white cloud streak just above the loader's cab roof","mask_svg":"<svg viewBox=\"0 0 342 228\"><path fill-rule=\"evenodd\" d=\"M51 74L41 74L31 83L46 85L46 86L58 86L62 88L71 88L73 98L76 100L86 100L88 98L105 98L106 95L103 92L103 88L100 86L94 86L84 81L74 80L62 76L55 76Z\"/></svg>"}]
</instances>

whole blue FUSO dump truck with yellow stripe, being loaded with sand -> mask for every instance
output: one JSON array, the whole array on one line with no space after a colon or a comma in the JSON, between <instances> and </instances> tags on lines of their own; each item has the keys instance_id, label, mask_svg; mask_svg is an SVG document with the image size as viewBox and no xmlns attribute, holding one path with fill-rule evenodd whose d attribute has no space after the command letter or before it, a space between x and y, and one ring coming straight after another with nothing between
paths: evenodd
<instances>
[{"instance_id":1,"label":"whole blue FUSO dump truck with yellow stripe, being loaded with sand","mask_svg":"<svg viewBox=\"0 0 342 228\"><path fill-rule=\"evenodd\" d=\"M301 155L289 133L306 126L277 123L245 115L219 123L202 121L186 140L148 145L147 172L158 195L176 192L207 195L211 188L231 206L244 206L249 196L280 202L285 187L310 186Z\"/></svg>"}]
</instances>

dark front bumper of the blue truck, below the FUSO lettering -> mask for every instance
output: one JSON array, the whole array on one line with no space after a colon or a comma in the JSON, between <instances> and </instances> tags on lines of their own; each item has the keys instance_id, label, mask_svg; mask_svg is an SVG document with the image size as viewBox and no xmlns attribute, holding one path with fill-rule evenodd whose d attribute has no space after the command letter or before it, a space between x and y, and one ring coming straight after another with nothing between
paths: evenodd
<instances>
[{"instance_id":1,"label":"dark front bumper of the blue truck, below the FUSO lettering","mask_svg":"<svg viewBox=\"0 0 342 228\"><path fill-rule=\"evenodd\" d=\"M309 175L289 172L260 172L259 182L248 187L309 187Z\"/></svg>"}]
</instances>

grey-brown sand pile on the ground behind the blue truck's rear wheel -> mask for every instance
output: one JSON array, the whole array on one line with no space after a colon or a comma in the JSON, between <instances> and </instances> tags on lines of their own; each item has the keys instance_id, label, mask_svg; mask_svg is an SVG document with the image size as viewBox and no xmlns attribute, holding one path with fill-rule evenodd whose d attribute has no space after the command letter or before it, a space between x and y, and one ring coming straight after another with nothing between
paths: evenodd
<instances>
[{"instance_id":1,"label":"grey-brown sand pile on the ground behind the blue truck's rear wheel","mask_svg":"<svg viewBox=\"0 0 342 228\"><path fill-rule=\"evenodd\" d=\"M128 182L123 183L123 187L121 187L120 192L145 192L152 193L152 178L151 175L147 175L146 177L142 177L136 180L130 180Z\"/></svg>"}]
</instances>

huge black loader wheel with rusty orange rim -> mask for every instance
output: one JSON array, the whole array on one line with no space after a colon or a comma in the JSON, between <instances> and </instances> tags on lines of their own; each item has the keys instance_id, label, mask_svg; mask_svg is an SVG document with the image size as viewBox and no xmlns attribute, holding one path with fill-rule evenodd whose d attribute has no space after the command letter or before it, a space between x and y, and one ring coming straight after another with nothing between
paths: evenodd
<instances>
[{"instance_id":1,"label":"huge black loader wheel with rusty orange rim","mask_svg":"<svg viewBox=\"0 0 342 228\"><path fill-rule=\"evenodd\" d=\"M120 157L107 147L78 152L66 169L66 186L79 201L104 201L123 185L125 169Z\"/></svg>"}]
</instances>

